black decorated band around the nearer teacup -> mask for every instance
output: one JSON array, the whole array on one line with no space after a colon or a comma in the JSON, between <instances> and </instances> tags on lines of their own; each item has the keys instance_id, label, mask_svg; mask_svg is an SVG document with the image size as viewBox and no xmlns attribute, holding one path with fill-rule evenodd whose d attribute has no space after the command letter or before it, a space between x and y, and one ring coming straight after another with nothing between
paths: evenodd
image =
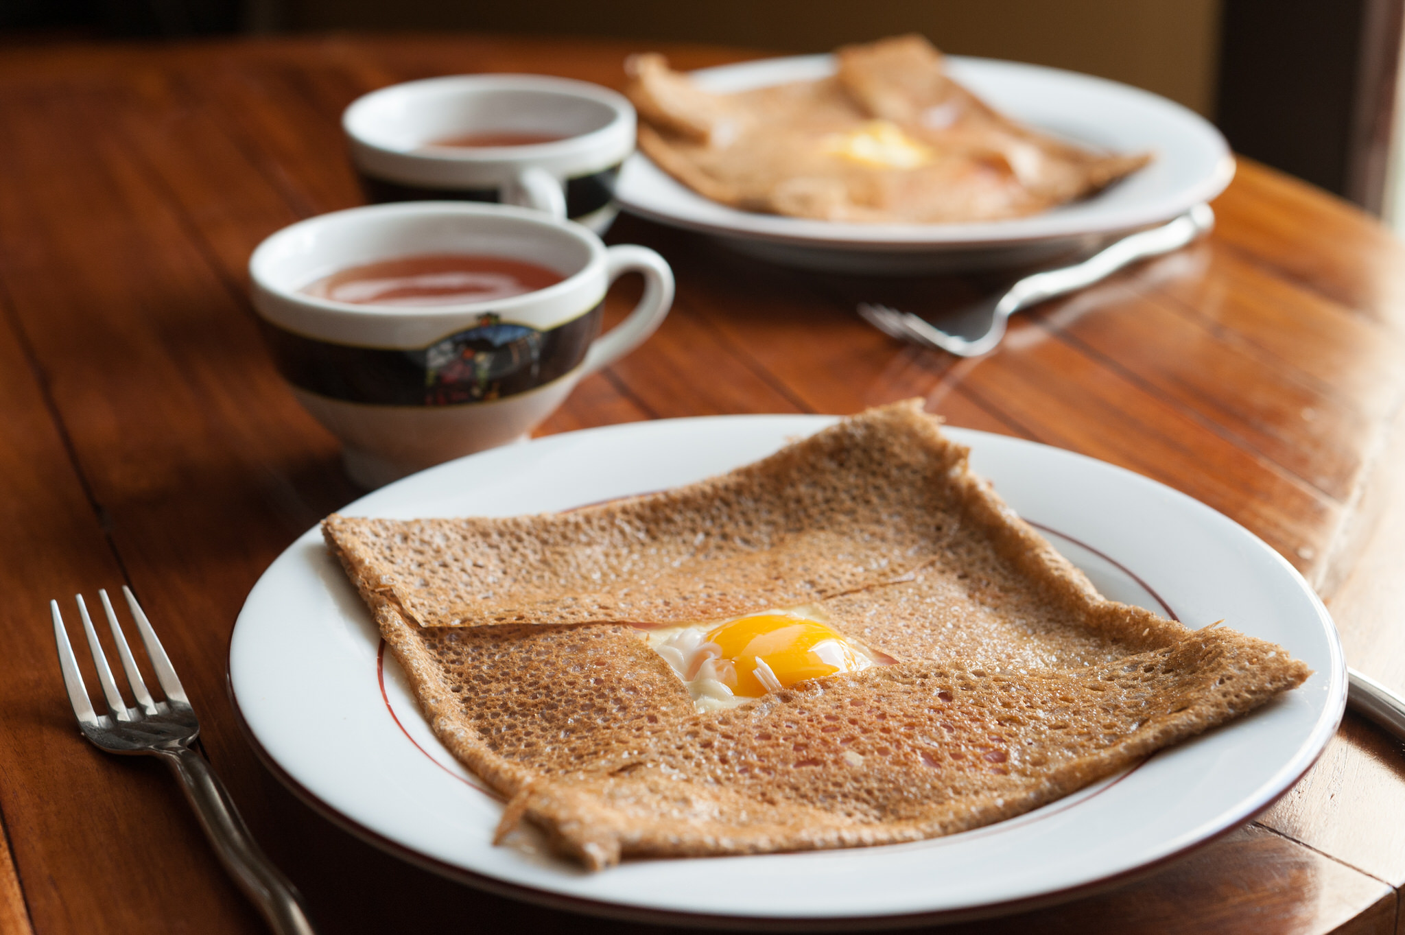
<instances>
[{"instance_id":1,"label":"black decorated band around the nearer teacup","mask_svg":"<svg viewBox=\"0 0 1405 935\"><path fill-rule=\"evenodd\" d=\"M260 319L278 372L299 389L348 403L458 406L516 396L565 376L600 334L604 302L538 331L482 314L427 348L350 347L285 331Z\"/></svg>"}]
</instances>

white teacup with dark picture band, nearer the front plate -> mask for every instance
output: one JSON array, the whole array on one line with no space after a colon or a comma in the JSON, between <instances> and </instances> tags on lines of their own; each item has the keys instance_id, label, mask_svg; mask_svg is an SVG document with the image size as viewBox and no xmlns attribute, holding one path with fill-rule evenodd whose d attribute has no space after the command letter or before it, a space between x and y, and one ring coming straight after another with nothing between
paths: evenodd
<instances>
[{"instance_id":1,"label":"white teacup with dark picture band, nearer the front plate","mask_svg":"<svg viewBox=\"0 0 1405 935\"><path fill-rule=\"evenodd\" d=\"M303 292L350 267L450 253L525 260L565 278L431 307ZM249 272L278 371L367 487L525 437L583 376L648 338L673 302L673 272L653 250L606 247L580 225L506 205L407 202L311 218L259 244ZM624 272L643 274L643 298L599 336L606 291Z\"/></svg>"}]
</instances>

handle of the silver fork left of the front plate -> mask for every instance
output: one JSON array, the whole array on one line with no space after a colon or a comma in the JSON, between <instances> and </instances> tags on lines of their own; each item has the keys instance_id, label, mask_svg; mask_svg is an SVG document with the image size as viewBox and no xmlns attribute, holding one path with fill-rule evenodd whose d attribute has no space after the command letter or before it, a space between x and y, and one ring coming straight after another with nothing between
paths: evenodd
<instances>
[{"instance_id":1,"label":"handle of the silver fork left of the front plate","mask_svg":"<svg viewBox=\"0 0 1405 935\"><path fill-rule=\"evenodd\" d=\"M229 790L205 758L188 747L162 751L162 757L180 779L219 862L259 907L268 927L277 935L316 935L302 896L259 849Z\"/></svg>"}]
</instances>

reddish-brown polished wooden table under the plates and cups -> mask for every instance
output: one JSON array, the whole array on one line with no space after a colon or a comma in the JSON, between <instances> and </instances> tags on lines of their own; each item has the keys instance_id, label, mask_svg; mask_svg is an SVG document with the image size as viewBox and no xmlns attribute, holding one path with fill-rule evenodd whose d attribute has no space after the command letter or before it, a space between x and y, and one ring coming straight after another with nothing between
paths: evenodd
<instances>
[{"instance_id":1,"label":"reddish-brown polished wooden table under the plates and cups","mask_svg":"<svg viewBox=\"0 0 1405 935\"><path fill-rule=\"evenodd\" d=\"M360 202L341 108L457 72L618 86L641 48L4 48L0 931L261 931L164 768L76 731L45 604L124 581L184 677L209 760L323 932L648 931L485 896L361 844L256 761L225 685L254 580L360 493L274 373L244 272L273 230ZM683 67L745 58L667 51ZM854 299L933 307L989 282L832 279L622 219L613 240L674 264L673 314L542 431L922 396L953 424L1124 465L1229 514L1331 601L1347 660L1405 689L1405 250L1252 164L1215 209L1207 243L1023 316L1000 351L960 362L873 331ZM629 298L617 289L611 314ZM1120 889L948 931L1405 932L1402 884L1405 757L1347 716L1321 762L1243 828Z\"/></svg>"}]
</instances>

